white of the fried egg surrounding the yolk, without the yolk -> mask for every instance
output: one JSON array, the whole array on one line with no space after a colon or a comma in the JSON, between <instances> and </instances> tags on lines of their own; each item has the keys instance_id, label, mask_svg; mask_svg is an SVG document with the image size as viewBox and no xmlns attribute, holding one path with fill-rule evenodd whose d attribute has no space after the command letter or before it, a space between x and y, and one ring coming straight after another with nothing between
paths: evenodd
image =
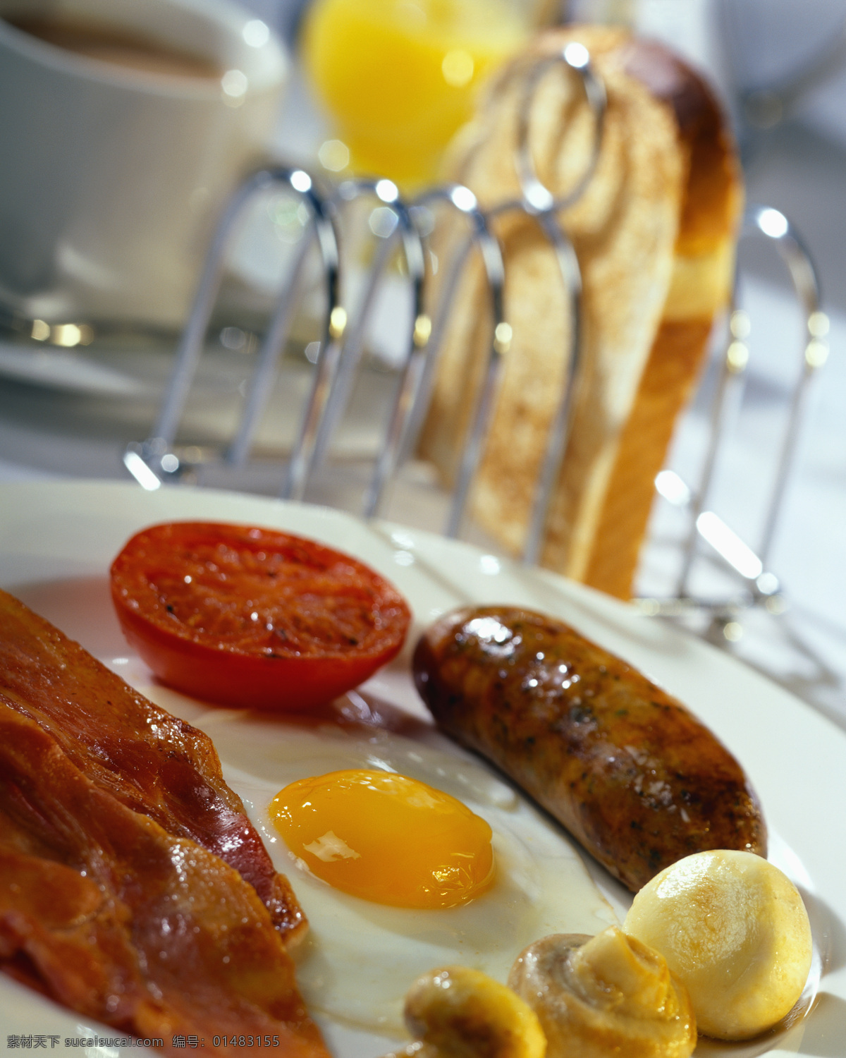
<instances>
[{"instance_id":1,"label":"white of the fried egg surrounding the yolk, without the yolk","mask_svg":"<svg viewBox=\"0 0 846 1058\"><path fill-rule=\"evenodd\" d=\"M153 693L166 708L184 712L174 708L172 692ZM309 933L294 957L302 997L318 1016L402 1039L405 992L419 974L462 964L504 983L516 955L538 937L596 933L617 923L559 828L434 731L421 735L417 728L406 737L379 726L309 726L226 710L192 723L215 740L226 781L243 799L309 918ZM420 911L360 899L312 875L273 825L270 802L297 779L345 768L418 779L486 819L497 867L492 888L459 908Z\"/></svg>"}]
</instances>

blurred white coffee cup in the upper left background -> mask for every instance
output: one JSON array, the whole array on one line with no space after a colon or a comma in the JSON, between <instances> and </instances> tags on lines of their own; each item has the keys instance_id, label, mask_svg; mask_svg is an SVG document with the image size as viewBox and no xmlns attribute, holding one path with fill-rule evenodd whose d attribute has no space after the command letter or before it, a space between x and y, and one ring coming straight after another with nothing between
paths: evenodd
<instances>
[{"instance_id":1,"label":"blurred white coffee cup in the upper left background","mask_svg":"<svg viewBox=\"0 0 846 1058\"><path fill-rule=\"evenodd\" d=\"M0 304L30 320L178 327L214 222L266 153L289 62L228 0L0 0L202 56L133 70L0 21Z\"/></svg>"}]
</instances>

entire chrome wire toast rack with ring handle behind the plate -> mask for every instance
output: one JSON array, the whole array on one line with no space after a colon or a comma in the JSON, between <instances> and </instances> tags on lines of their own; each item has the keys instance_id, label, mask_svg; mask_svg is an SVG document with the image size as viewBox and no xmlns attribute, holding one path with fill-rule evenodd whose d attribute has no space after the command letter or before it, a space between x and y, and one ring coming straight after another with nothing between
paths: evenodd
<instances>
[{"instance_id":1,"label":"entire chrome wire toast rack with ring handle behind the plate","mask_svg":"<svg viewBox=\"0 0 846 1058\"><path fill-rule=\"evenodd\" d=\"M562 67L578 77L593 114L595 130L587 169L564 200L556 199L539 179L529 143L529 112L533 95L542 78L553 68ZM238 470L244 468L251 458L280 355L291 333L295 308L302 297L306 262L316 247L324 288L320 333L309 393L279 488L282 498L302 499L307 495L310 484L327 457L330 441L349 400L351 386L361 366L368 322L380 286L399 255L401 271L409 288L412 311L407 333L403 335L403 359L387 426L361 507L365 517L380 516L385 509L391 485L415 450L455 292L471 256L478 254L490 293L492 338L486 350L483 381L472 411L471 425L444 527L447 536L460 535L474 473L484 449L494 411L502 359L512 334L503 312L505 266L491 222L507 212L521 211L534 219L555 253L573 321L568 369L535 485L532 515L522 554L523 562L535 564L567 446L571 395L580 370L582 347L581 272L572 243L558 215L580 198L593 176L602 144L606 102L602 79L582 44L571 42L562 52L536 60L522 70L515 153L520 196L489 211L482 211L473 191L460 184L440 186L412 201L406 201L400 196L397 186L384 179L345 180L329 186L304 168L283 166L263 168L249 177L229 200L213 238L152 433L145 441L130 444L125 452L124 462L130 474L144 488L158 489L164 484L184 479L186 472L197 472L197 460L186 459L184 452L180 451L178 434L203 353L206 331L223 275L225 254L232 242L233 231L246 205L258 194L280 187L293 194L306 208L306 233L297 245L290 278L276 296L270 314L255 367L246 384L235 435L225 449L216 454L215 459L222 466ZM342 298L341 274L345 267L345 247L341 230L346 211L356 202L368 200L390 212L392 227L375 249L363 293L353 309L348 304L343 304ZM444 212L462 218L465 234L452 259L444 262L443 267L447 272L445 279L439 285L442 294L437 304L430 305L428 238ZM727 408L749 362L746 344L749 317L735 305L730 314L729 341L722 353L720 380L711 411L710 439L701 479L692 487L672 471L662 471L656 479L658 492L670 503L684 508L689 518L689 533L683 547L676 591L670 598L636 600L645 614L667 617L704 614L721 627L736 624L738 615L748 606L761 605L771 613L784 608L778 579L769 568L772 543L795 464L808 387L828 352L828 321L820 308L815 270L787 218L776 209L754 206L746 214L741 237L764 237L775 245L788 267L806 321L802 371L787 416L762 537L757 549L752 549L707 506L718 455L725 441L729 425ZM717 557L737 579L737 590L724 598L707 600L695 597L691 591L692 570L703 554L703 545L706 552Z\"/></svg>"}]
</instances>

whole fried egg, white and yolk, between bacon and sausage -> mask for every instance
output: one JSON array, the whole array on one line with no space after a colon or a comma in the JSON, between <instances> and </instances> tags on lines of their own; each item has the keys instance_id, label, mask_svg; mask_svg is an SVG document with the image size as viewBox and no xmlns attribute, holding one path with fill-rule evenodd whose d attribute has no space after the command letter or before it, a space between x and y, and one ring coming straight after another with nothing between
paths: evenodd
<instances>
[{"instance_id":1,"label":"whole fried egg, white and yolk, between bacon and sausage","mask_svg":"<svg viewBox=\"0 0 846 1058\"><path fill-rule=\"evenodd\" d=\"M180 712L163 691L151 689ZM300 992L324 1024L327 1018L404 1039L403 1001L421 973L460 964L504 984L516 956L538 937L617 925L560 828L423 724L410 722L408 737L372 716L364 724L342 717L309 725L215 710L191 723L215 741L226 781L309 918L293 954ZM415 818L380 805L367 785L410 800ZM288 824L277 828L280 809L313 803L315 795L311 818L307 810L288 833ZM341 821L327 807L332 800L342 805ZM417 906L401 907L391 899L394 887L415 890L421 877L423 889L437 889L425 882L426 871L442 871L448 880L449 868L467 853L478 859L463 902L438 906L437 896L418 894ZM362 868L352 882L327 870L345 864Z\"/></svg>"}]
</instances>

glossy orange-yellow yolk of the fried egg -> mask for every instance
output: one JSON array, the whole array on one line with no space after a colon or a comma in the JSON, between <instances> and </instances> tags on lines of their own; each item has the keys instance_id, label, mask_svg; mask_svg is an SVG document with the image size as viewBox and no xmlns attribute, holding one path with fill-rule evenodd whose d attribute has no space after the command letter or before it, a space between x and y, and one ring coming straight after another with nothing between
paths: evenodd
<instances>
[{"instance_id":1,"label":"glossy orange-yellow yolk of the fried egg","mask_svg":"<svg viewBox=\"0 0 846 1058\"><path fill-rule=\"evenodd\" d=\"M466 904L493 881L492 831L460 801L387 771L332 771L271 802L286 844L335 889L400 908Z\"/></svg>"}]
</instances>

